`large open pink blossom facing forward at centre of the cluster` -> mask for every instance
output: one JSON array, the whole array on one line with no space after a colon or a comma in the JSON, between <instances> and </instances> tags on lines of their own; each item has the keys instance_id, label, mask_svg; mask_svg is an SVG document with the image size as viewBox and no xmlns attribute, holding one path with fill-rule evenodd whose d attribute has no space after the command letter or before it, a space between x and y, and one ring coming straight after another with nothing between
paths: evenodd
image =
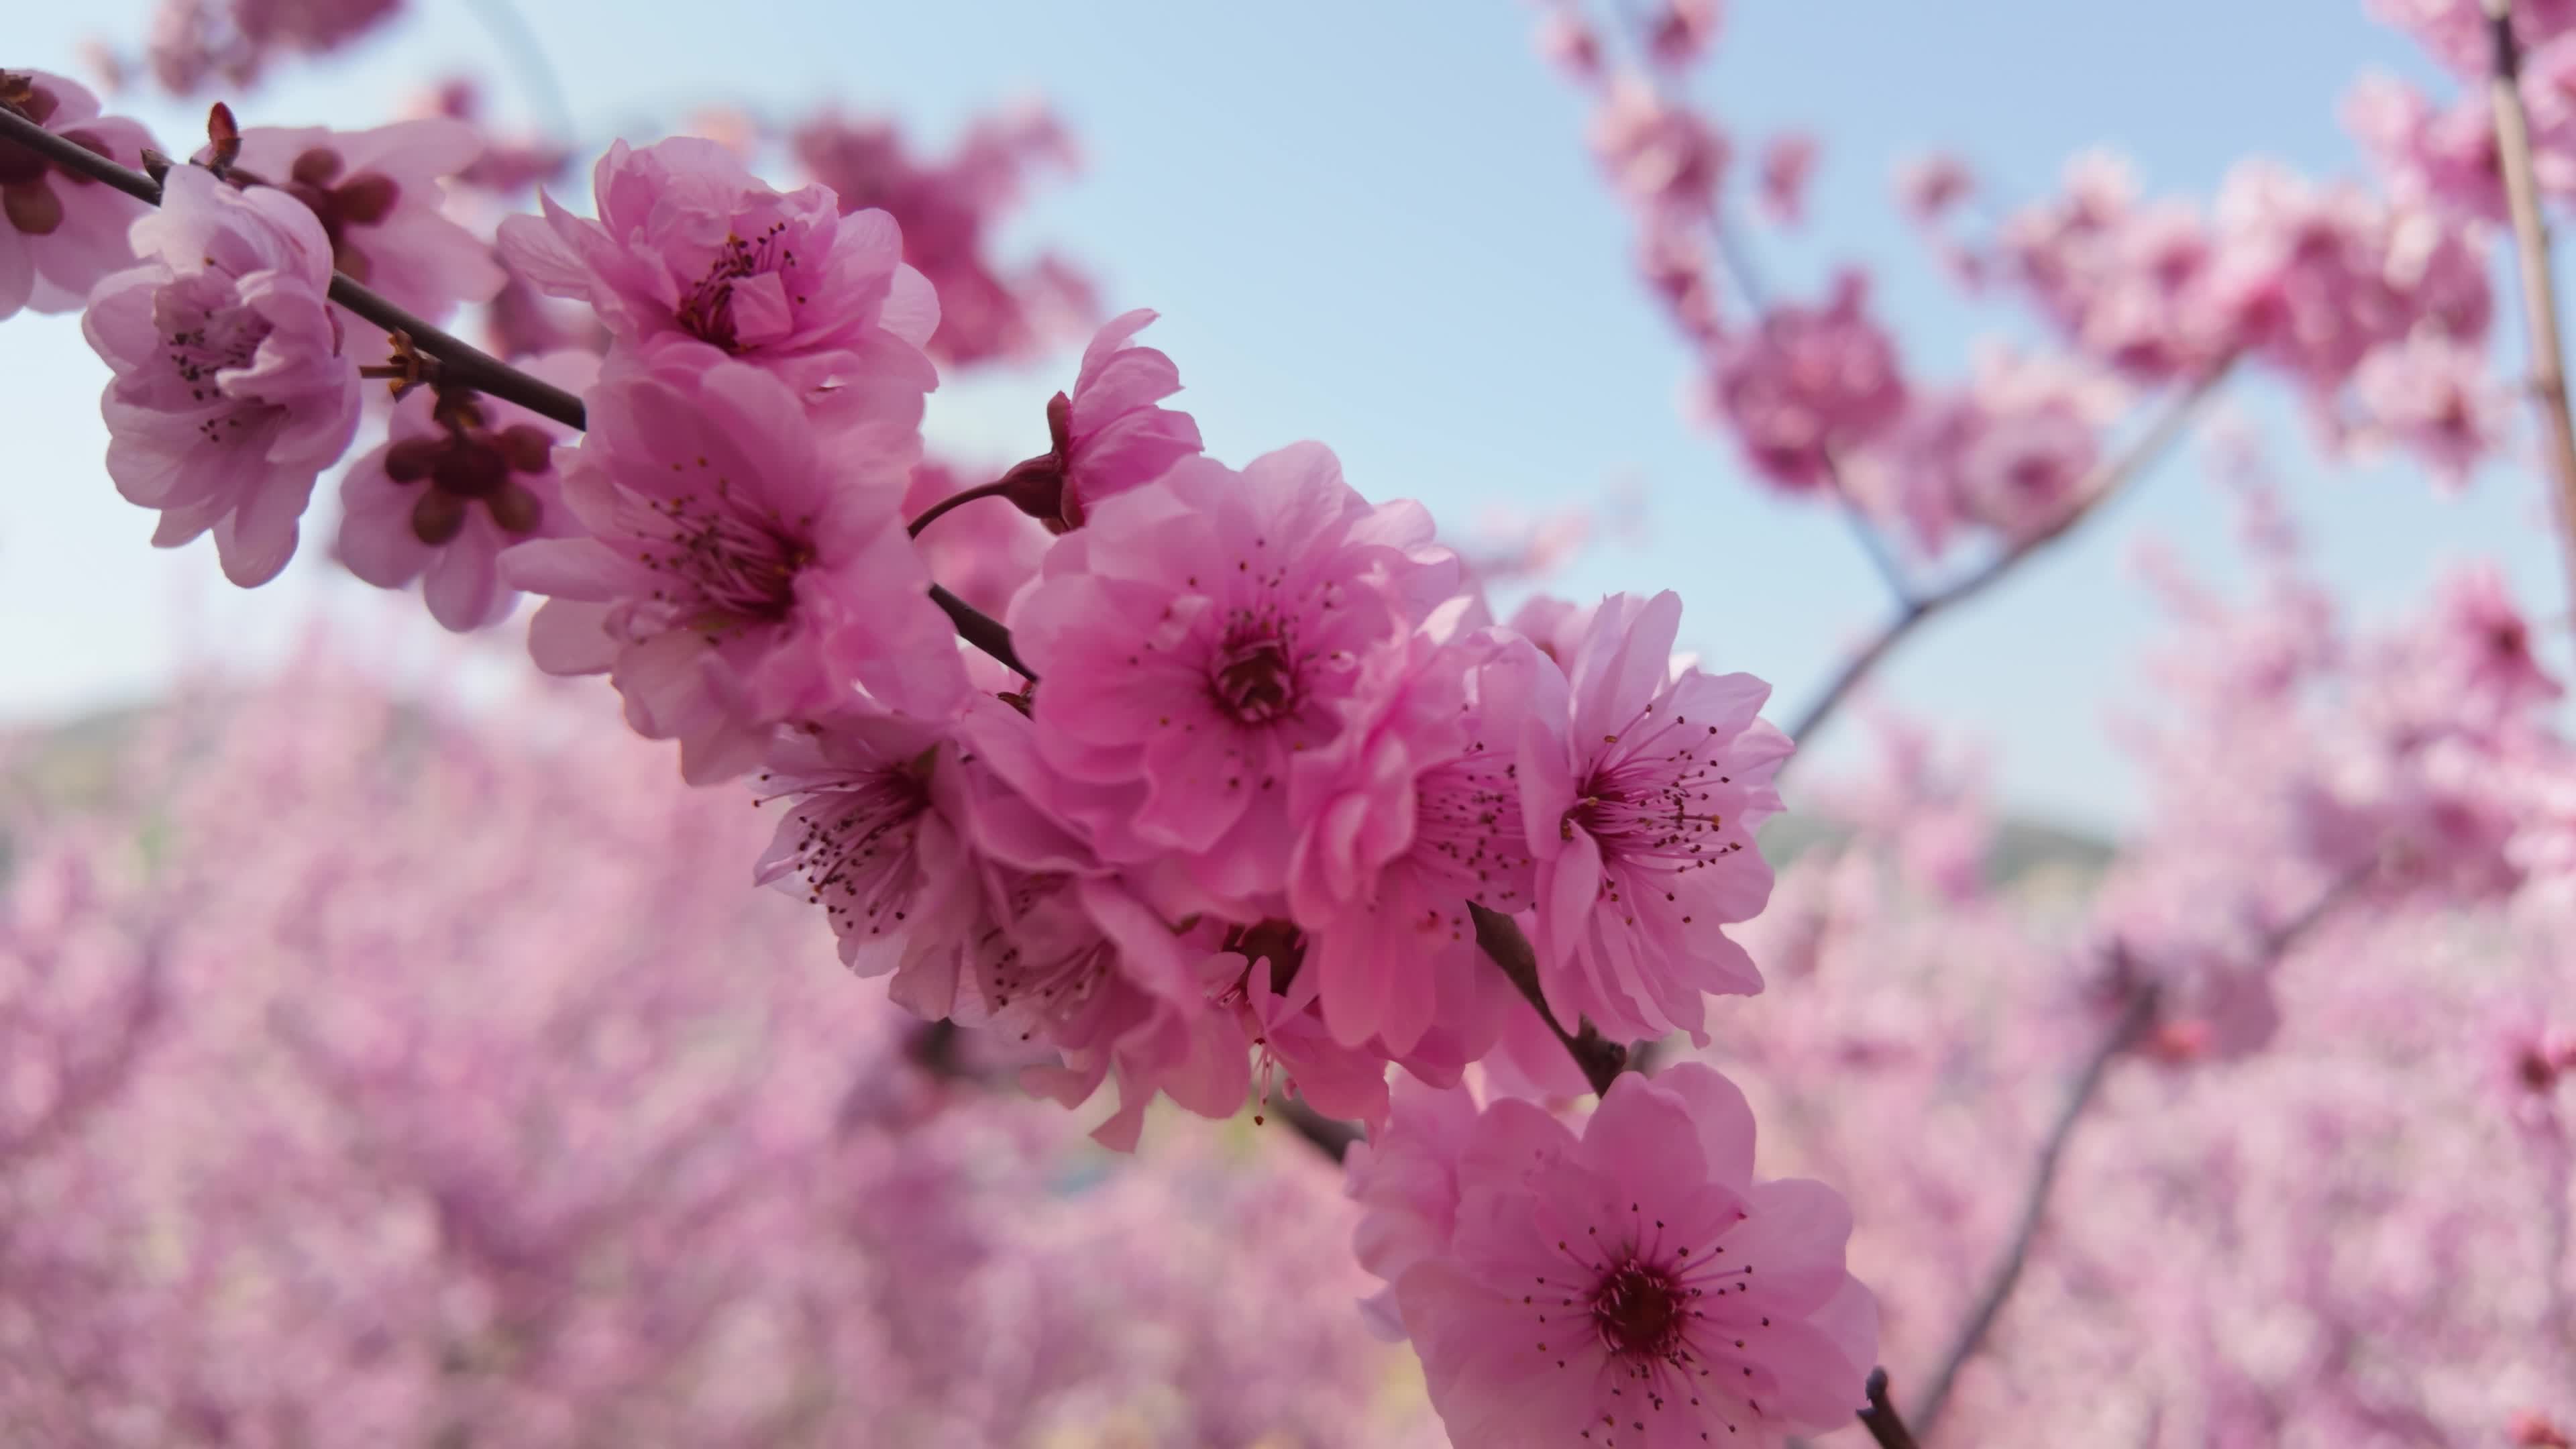
<instances>
[{"instance_id":1,"label":"large open pink blossom facing forward at centre of the cluster","mask_svg":"<svg viewBox=\"0 0 2576 1449\"><path fill-rule=\"evenodd\" d=\"M1010 611L1046 681L1054 804L1113 861L1159 861L1221 900L1278 892L1291 761L1342 735L1453 578L1430 516L1370 508L1319 443L1244 472L1185 459L1103 500Z\"/></svg>"}]
</instances>

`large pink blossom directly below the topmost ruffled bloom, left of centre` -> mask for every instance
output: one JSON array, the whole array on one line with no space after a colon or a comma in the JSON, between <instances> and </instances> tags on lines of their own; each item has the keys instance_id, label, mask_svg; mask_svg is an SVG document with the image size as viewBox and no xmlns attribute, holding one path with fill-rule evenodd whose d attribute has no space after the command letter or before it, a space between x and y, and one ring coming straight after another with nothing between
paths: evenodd
<instances>
[{"instance_id":1,"label":"large pink blossom directly below the topmost ruffled bloom, left of centre","mask_svg":"<svg viewBox=\"0 0 2576 1449\"><path fill-rule=\"evenodd\" d=\"M608 670L690 784L747 771L781 722L948 709L963 673L896 516L920 454L902 400L824 438L775 374L703 353L595 387L562 464L590 536L502 554L505 583L554 596L538 668Z\"/></svg>"}]
</instances>

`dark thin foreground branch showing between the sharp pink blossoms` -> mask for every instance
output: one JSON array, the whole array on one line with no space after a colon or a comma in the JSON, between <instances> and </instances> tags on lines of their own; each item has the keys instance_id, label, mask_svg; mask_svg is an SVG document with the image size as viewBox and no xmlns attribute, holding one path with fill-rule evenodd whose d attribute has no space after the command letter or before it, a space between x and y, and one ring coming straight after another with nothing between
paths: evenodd
<instances>
[{"instance_id":1,"label":"dark thin foreground branch showing between the sharp pink blossoms","mask_svg":"<svg viewBox=\"0 0 2576 1449\"><path fill-rule=\"evenodd\" d=\"M18 111L10 111L5 103L0 103L0 137L13 139L28 150L36 150L46 160L54 160L67 170L77 170L93 180L103 180L124 191L126 196L134 196L137 201L149 201L152 206L160 206L162 188L157 180L152 180L139 170L121 168L113 160L82 147L80 142L70 142L64 137L57 137L54 131L46 131L36 121L21 116ZM484 353L482 348L443 333L422 322L420 317L412 317L402 307L394 307L384 297L368 291L366 286L358 286L355 281L340 273L332 273L330 278L330 297L332 302L348 307L358 317L384 327L386 335L407 340L410 351L425 358L435 358L438 382L448 387L469 387L489 397L518 402L520 407L541 418L554 418L567 428L587 425L580 397L564 392L562 387L528 376L526 371L495 358L492 353ZM930 585L930 601L948 614L961 639L966 639L976 650L984 650L987 655L1012 668L1023 678L1028 681L1038 678L1036 670L1020 663L1018 650L1010 647L1010 629L1005 629L997 619L992 619L989 614L979 611L976 606L966 603L963 598L948 593L935 583ZM1512 926L1507 915L1494 915L1473 905L1468 910L1476 913L1476 944L1481 944L1486 954L1494 957L1494 962L1502 967L1502 972L1512 977L1512 985L1520 987L1520 995L1530 998L1530 1006L1538 1008L1538 1016L1546 1018L1548 1029L1556 1031L1556 1039L1566 1044L1569 1055L1574 1055L1574 1065L1584 1070L1584 1080L1589 1080L1595 1091L1610 1091L1610 1080L1625 1062L1628 1049L1620 1047L1618 1042L1605 1042L1602 1034L1592 1029L1592 1024L1584 1024L1582 1034L1569 1034L1564 1026L1558 1026L1556 1018L1548 1013L1546 998L1538 993L1538 954L1530 949L1530 941L1520 933L1520 926ZM1306 1111L1306 1116L1314 1114ZM1327 1127L1309 1129L1306 1122L1298 1122L1298 1132L1303 1132L1327 1152L1340 1155L1334 1150L1334 1140L1347 1145L1350 1129L1329 1124L1321 1116L1314 1116L1314 1122L1327 1124L1332 1129Z\"/></svg>"}]
</instances>

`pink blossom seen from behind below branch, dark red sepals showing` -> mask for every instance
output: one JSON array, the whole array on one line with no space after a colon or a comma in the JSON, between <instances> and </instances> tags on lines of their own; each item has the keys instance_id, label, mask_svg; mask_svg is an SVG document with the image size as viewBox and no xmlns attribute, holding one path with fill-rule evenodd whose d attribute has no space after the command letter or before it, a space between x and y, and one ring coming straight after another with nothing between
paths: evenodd
<instances>
[{"instance_id":1,"label":"pink blossom seen from behind below branch, dark red sepals showing","mask_svg":"<svg viewBox=\"0 0 2576 1449\"><path fill-rule=\"evenodd\" d=\"M600 371L590 353L526 366L572 392ZM500 624L518 606L500 552L580 534L554 477L572 431L500 397L428 387L394 405L389 431L340 474L340 562L376 588L422 580L430 616L459 634Z\"/></svg>"}]
</instances>

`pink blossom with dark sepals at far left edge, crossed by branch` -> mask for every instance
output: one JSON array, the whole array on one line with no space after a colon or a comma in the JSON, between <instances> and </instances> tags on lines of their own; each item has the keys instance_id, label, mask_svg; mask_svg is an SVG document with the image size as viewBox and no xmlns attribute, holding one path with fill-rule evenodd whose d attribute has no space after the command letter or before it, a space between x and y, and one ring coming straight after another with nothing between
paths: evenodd
<instances>
[{"instance_id":1,"label":"pink blossom with dark sepals at far left edge, crossed by branch","mask_svg":"<svg viewBox=\"0 0 2576 1449\"><path fill-rule=\"evenodd\" d=\"M100 116L98 98L44 70L10 72L18 111L57 137L80 142L118 165L142 168L152 134L139 121ZM5 90L5 88L0 88ZM149 211L142 201L77 170L0 139L0 320L21 307L72 312L98 278L134 266L126 229Z\"/></svg>"}]
</instances>

